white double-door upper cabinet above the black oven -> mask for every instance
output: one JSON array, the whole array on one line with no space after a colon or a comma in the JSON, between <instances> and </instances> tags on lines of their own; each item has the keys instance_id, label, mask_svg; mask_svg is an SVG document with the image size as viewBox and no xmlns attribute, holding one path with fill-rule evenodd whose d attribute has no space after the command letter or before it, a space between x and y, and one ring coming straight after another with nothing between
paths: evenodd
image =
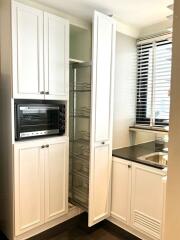
<instances>
[{"instance_id":1,"label":"white double-door upper cabinet above the black oven","mask_svg":"<svg viewBox=\"0 0 180 240\"><path fill-rule=\"evenodd\" d=\"M69 23L13 1L13 97L68 99Z\"/></svg>"}]
</instances>

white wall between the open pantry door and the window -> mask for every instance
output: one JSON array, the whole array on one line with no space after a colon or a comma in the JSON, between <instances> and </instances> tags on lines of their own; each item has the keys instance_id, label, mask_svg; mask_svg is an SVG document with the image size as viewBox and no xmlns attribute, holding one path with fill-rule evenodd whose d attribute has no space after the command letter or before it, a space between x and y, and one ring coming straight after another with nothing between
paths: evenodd
<instances>
[{"instance_id":1,"label":"white wall between the open pantry door and the window","mask_svg":"<svg viewBox=\"0 0 180 240\"><path fill-rule=\"evenodd\" d=\"M136 39L117 33L113 148L130 145L129 126L135 121L135 103Z\"/></svg>"}]
</instances>

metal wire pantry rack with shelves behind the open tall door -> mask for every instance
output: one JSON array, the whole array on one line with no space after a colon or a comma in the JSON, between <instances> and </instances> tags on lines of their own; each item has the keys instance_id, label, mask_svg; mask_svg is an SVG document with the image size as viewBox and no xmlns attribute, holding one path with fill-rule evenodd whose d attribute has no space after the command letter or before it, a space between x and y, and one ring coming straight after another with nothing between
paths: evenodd
<instances>
[{"instance_id":1,"label":"metal wire pantry rack with shelves behind the open tall door","mask_svg":"<svg viewBox=\"0 0 180 240\"><path fill-rule=\"evenodd\" d=\"M70 66L70 202L88 208L91 65Z\"/></svg>"}]
</instances>

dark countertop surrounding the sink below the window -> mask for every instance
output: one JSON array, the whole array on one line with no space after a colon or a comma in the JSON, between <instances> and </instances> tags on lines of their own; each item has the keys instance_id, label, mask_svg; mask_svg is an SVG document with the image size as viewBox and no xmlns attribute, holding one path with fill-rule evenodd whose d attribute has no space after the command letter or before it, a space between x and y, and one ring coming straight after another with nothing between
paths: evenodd
<instances>
[{"instance_id":1,"label":"dark countertop surrounding the sink below the window","mask_svg":"<svg viewBox=\"0 0 180 240\"><path fill-rule=\"evenodd\" d=\"M113 150L112 155L114 157L123 158L128 161L163 169L165 166L150 161L143 161L139 159L139 157L154 152L163 152L164 147L165 146L163 144L159 144L156 141L153 141L130 147L115 149Z\"/></svg>"}]
</instances>

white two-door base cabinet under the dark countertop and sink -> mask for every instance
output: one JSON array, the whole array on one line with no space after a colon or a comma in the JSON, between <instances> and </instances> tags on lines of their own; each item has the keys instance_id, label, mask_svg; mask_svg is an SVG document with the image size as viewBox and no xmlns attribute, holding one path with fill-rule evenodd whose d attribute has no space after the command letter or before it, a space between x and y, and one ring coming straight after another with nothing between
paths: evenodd
<instances>
[{"instance_id":1,"label":"white two-door base cabinet under the dark countertop and sink","mask_svg":"<svg viewBox=\"0 0 180 240\"><path fill-rule=\"evenodd\" d=\"M125 230L163 239L166 171L113 157L111 217Z\"/></svg>"}]
</instances>

